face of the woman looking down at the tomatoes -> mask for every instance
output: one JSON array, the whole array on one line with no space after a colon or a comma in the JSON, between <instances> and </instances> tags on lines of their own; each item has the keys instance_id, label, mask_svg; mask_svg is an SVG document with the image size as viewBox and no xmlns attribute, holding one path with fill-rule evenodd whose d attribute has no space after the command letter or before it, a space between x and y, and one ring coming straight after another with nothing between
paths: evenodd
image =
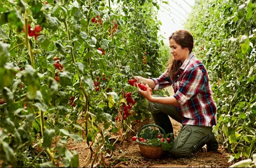
<instances>
[{"instance_id":1,"label":"face of the woman looking down at the tomatoes","mask_svg":"<svg viewBox=\"0 0 256 168\"><path fill-rule=\"evenodd\" d=\"M186 60L189 55L188 48L182 48L179 44L175 42L172 38L169 40L171 54L176 61L180 60L182 63Z\"/></svg>"}]
</instances>

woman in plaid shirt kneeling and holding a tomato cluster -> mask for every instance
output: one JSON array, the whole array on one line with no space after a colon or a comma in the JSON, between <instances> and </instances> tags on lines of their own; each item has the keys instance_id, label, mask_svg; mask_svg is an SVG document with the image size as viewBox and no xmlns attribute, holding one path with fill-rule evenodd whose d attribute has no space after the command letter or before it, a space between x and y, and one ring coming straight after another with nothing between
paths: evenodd
<instances>
[{"instance_id":1,"label":"woman in plaid shirt kneeling and holding a tomato cluster","mask_svg":"<svg viewBox=\"0 0 256 168\"><path fill-rule=\"evenodd\" d=\"M173 132L168 116L182 123L178 136L174 139L171 154L188 156L205 144L207 151L217 151L218 142L212 133L216 125L216 102L212 96L205 66L192 54L193 36L186 30L178 30L169 37L172 57L166 72L158 78L133 76L146 84L147 90L138 92L148 100L148 110L156 125L167 133ZM175 95L170 97L151 96L154 90L172 85Z\"/></svg>"}]
</instances>

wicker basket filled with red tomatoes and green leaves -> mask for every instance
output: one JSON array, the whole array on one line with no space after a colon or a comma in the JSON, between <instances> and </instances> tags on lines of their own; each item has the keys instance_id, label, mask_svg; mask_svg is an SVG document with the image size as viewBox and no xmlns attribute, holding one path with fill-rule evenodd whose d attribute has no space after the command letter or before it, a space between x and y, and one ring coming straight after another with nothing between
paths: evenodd
<instances>
[{"instance_id":1,"label":"wicker basket filled with red tomatoes and green leaves","mask_svg":"<svg viewBox=\"0 0 256 168\"><path fill-rule=\"evenodd\" d=\"M172 147L173 134L166 134L160 126L148 124L142 126L132 140L138 142L143 157L157 159L161 158L164 150L170 150Z\"/></svg>"}]
</instances>

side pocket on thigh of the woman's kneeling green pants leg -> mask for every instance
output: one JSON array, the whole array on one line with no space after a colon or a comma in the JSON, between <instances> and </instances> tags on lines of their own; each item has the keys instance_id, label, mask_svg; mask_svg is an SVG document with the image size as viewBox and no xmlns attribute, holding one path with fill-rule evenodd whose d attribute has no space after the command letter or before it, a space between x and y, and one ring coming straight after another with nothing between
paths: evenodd
<instances>
[{"instance_id":1,"label":"side pocket on thigh of the woman's kneeling green pants leg","mask_svg":"<svg viewBox=\"0 0 256 168\"><path fill-rule=\"evenodd\" d=\"M188 140L188 137L190 136L191 132L192 130L190 126L188 125L183 126L182 130L179 132L178 137L174 142L174 148L177 149L182 147Z\"/></svg>"}]
</instances>

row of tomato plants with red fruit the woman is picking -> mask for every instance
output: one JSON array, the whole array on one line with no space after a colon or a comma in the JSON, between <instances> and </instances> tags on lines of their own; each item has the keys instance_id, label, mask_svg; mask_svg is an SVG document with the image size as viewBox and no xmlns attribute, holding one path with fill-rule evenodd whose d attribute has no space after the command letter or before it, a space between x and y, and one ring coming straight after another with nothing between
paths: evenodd
<instances>
[{"instance_id":1,"label":"row of tomato plants with red fruit the woman is picking","mask_svg":"<svg viewBox=\"0 0 256 168\"><path fill-rule=\"evenodd\" d=\"M146 100L128 80L163 71L158 4L4 0L0 5L1 166L50 167L60 161L65 167L107 167L106 153L111 157L117 143L110 136L119 133L123 142L132 125L148 115ZM86 140L85 165L79 165L78 152L66 148L70 139Z\"/></svg>"}]
</instances>

